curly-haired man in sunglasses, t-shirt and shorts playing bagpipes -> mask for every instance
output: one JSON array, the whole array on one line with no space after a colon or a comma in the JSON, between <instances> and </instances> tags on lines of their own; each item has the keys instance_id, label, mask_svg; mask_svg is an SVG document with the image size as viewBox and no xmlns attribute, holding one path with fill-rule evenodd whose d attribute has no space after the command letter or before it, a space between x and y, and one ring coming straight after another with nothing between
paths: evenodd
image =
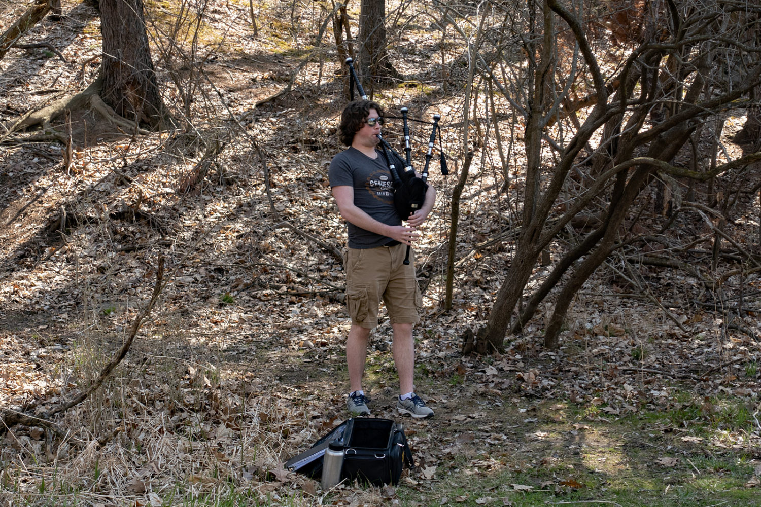
<instances>
[{"instance_id":1,"label":"curly-haired man in sunglasses, t-shirt and shorts playing bagpipes","mask_svg":"<svg viewBox=\"0 0 761 507\"><path fill-rule=\"evenodd\" d=\"M378 324L382 299L393 328L393 360L399 375L396 410L412 417L433 417L433 410L416 395L415 342L412 327L420 320L422 296L415 279L414 258L405 263L408 247L420 239L419 227L431 213L436 191L425 183L416 211L401 217L394 205L394 181L402 161L381 144L383 109L370 100L355 100L342 112L340 139L348 146L330 163L328 176L341 217L348 222L349 250L344 256L346 306L352 327L346 341L349 366L349 412L368 415L370 401L362 376L372 328ZM383 151L377 148L383 147ZM407 225L403 225L403 220Z\"/></svg>"}]
</instances>

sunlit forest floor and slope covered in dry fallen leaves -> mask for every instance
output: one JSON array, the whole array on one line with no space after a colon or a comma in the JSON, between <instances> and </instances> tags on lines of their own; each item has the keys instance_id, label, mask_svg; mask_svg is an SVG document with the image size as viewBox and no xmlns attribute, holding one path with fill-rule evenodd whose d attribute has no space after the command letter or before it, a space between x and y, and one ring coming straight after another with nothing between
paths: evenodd
<instances>
[{"instance_id":1,"label":"sunlit forest floor and slope covered in dry fallen leaves","mask_svg":"<svg viewBox=\"0 0 761 507\"><path fill-rule=\"evenodd\" d=\"M322 20L318 3L300 8L297 21ZM21 6L0 5L5 27ZM41 22L25 40L45 40L63 59L37 48L12 49L0 60L0 122L96 77L97 12L87 4L68 8L62 21ZM182 134L131 135L81 109L69 117L69 157L56 141L3 138L0 407L40 414L94 382L150 297L160 258L167 268L157 306L103 388L53 429L2 429L2 505L761 501L754 313L761 287L758 277L724 277L737 268L731 260L713 269L708 241L684 260L724 277L728 300L739 294L745 305L739 315L696 300L699 284L684 274L637 266L637 287L617 258L578 294L558 350L542 348L550 299L522 334L508 336L504 353L460 354L463 334L489 315L513 248L502 236L511 201L489 197L501 181L488 157L476 163L463 194L448 311L453 176L431 170L440 197L416 248L425 289L416 390L434 418L394 413L388 322L371 338L365 385L373 417L406 424L416 469L396 487L348 484L330 492L284 471L283 461L348 417L349 321L336 255L345 231L326 180L340 149L335 129L344 99L337 65L326 63L319 46L294 46L298 39L282 28L288 5L262 16L258 37L249 33L247 9L247 2L209 4L207 50L196 56L208 80L189 71L193 65L154 54L167 102L181 109L173 82L196 87L198 109L186 117L193 128ZM158 14L151 19L164 26ZM437 51L432 29L416 30L400 46L408 75ZM270 99L303 59L309 64L293 90ZM461 100L428 90L423 78L376 93L416 114L441 112L456 171L458 125L448 124L447 112L454 115ZM416 144L427 136L422 129ZM730 135L726 145L740 150ZM213 139L224 151L206 179L190 185ZM520 189L520 163L514 178L508 193ZM753 203L753 196L739 199L728 233L757 251ZM699 223L680 227L705 233ZM537 266L532 279L548 269Z\"/></svg>"}]
</instances>

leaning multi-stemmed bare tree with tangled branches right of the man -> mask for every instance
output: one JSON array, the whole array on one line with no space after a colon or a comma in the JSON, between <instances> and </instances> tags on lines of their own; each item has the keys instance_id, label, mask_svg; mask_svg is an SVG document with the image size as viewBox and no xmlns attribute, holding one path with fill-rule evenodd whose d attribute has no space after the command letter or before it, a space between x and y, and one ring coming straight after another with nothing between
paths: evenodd
<instances>
[{"instance_id":1,"label":"leaning multi-stemmed bare tree with tangled branches right of the man","mask_svg":"<svg viewBox=\"0 0 761 507\"><path fill-rule=\"evenodd\" d=\"M578 290L610 252L627 241L627 237L619 235L632 229L624 229L622 225L625 220L629 220L629 226L638 220L639 214L632 213L632 206L643 199L643 191L658 173L711 181L761 156L748 154L714 168L706 166L711 160L708 155L692 170L670 163L698 125L705 124L712 116L726 114L727 104L747 97L761 79L761 65L736 59L738 50L733 42L742 39L748 47L757 45L756 36L745 34L756 25L761 26L761 11L756 8L743 11L748 23L728 22L724 26L721 20L728 19L733 8L723 3L711 3L707 8L715 13L711 19L716 21L710 24L706 24L704 13L689 8L680 11L674 2L668 2L667 11L664 8L658 14L670 14L670 29L667 27L664 31L662 17L654 17L646 24L642 45L622 62L616 76L605 77L600 71L593 46L584 33L583 20L578 11L568 10L561 0L529 2L517 14L506 14L505 19L509 18L512 24L505 24L505 29L520 28L513 33L520 33L524 41L525 65L515 65L512 54L501 54L503 61L497 64L502 69L500 80L496 77L498 73L489 68L495 61L489 52L494 44L485 49L485 55L473 55L472 59L511 102L514 111L524 118L527 176L521 234L514 256L486 326L476 333L466 332L463 353L501 350L538 256L566 227L573 227L575 217L597 217L594 230L582 230L577 244L557 259L552 273L541 280L543 284L532 294L527 309L512 327L513 331L520 330L550 291L562 285L545 329L546 347L559 344L559 331ZM550 11L557 16L555 21ZM560 26L563 22L567 27ZM557 30L553 29L553 23L559 25ZM457 25L453 23L453 27ZM696 39L694 34L686 35L693 33L690 30L701 30L701 36L710 43L702 43L701 51L693 52ZM728 31L733 33L733 38L728 38ZM565 37L562 33L573 33L584 62L577 62L578 53L571 53L567 41L557 42ZM552 51L556 43L562 51ZM753 55L755 58L756 53ZM716 62L726 62L726 68L717 70ZM564 81L560 73L572 68L574 74L577 63L583 73L579 75L585 76L584 91L595 98L583 107L594 106L594 109L588 112L583 124L577 121L573 125L557 125L564 130L566 126L575 130L572 138L552 135L552 129L547 128L549 123L563 121L558 111L575 93L572 91L575 81ZM561 85L556 86L558 83ZM589 90L590 85L594 85L594 90ZM609 100L614 91L616 95ZM634 97L635 94L638 97ZM743 103L736 106L741 107ZM664 108L663 114L654 123L647 123L648 116L658 107ZM597 147L592 147L589 141L596 133L602 134L602 139L596 143ZM552 163L543 157L546 154L543 152L550 151L547 148L550 145ZM643 151L647 155L638 157ZM572 171L573 177L569 178ZM562 200L559 200L560 192L566 192ZM649 198L648 193L644 199ZM646 208L648 205L643 202L640 210Z\"/></svg>"}]
</instances>

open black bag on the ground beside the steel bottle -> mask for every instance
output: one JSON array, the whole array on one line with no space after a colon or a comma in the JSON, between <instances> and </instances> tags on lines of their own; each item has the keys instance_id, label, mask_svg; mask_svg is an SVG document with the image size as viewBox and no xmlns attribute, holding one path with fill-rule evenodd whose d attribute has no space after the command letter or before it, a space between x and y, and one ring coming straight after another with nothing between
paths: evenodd
<instances>
[{"instance_id":1,"label":"open black bag on the ground beside the steel bottle","mask_svg":"<svg viewBox=\"0 0 761 507\"><path fill-rule=\"evenodd\" d=\"M404 467L415 467L404 428L390 419L356 417L319 439L307 452L285 462L285 469L319 479L329 442L343 444L341 478L375 486L399 483Z\"/></svg>"}]
</instances>

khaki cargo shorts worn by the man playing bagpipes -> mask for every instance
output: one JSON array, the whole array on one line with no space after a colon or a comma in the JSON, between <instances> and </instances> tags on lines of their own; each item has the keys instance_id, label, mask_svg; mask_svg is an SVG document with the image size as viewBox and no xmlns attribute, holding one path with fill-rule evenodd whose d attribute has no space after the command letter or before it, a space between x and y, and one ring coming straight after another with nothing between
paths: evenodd
<instances>
[{"instance_id":1,"label":"khaki cargo shorts worn by the man playing bagpipes","mask_svg":"<svg viewBox=\"0 0 761 507\"><path fill-rule=\"evenodd\" d=\"M372 329L378 325L382 299L392 324L420 321L422 295L415 280L412 252L404 265L405 245L349 249L344 255L346 308L352 324Z\"/></svg>"}]
</instances>

